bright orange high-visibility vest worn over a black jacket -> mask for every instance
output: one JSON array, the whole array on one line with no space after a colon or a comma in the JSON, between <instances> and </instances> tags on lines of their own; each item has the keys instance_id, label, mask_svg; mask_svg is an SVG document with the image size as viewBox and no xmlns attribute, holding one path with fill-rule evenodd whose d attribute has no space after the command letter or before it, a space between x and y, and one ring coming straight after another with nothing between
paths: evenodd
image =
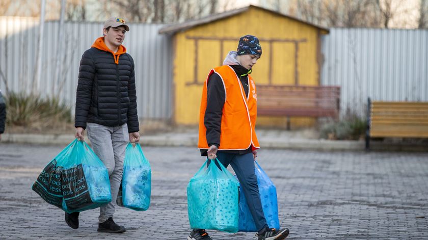
<instances>
[{"instance_id":1,"label":"bright orange high-visibility vest worn over a black jacket","mask_svg":"<svg viewBox=\"0 0 428 240\"><path fill-rule=\"evenodd\" d=\"M211 69L202 90L199 112L199 149L208 149L204 117L206 110L207 85L211 74L217 73L223 81L226 100L223 106L219 150L253 150L260 148L255 132L257 118L257 92L253 78L248 75L248 97L233 68L223 65Z\"/></svg>"}]
</instances>

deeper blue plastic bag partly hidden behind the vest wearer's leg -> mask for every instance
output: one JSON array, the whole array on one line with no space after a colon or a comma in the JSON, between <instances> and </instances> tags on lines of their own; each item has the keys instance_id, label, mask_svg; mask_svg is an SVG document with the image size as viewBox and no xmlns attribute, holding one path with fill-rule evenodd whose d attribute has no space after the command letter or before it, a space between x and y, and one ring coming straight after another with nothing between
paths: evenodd
<instances>
[{"instance_id":1,"label":"deeper blue plastic bag partly hidden behind the vest wearer's leg","mask_svg":"<svg viewBox=\"0 0 428 240\"><path fill-rule=\"evenodd\" d=\"M270 228L279 229L278 199L275 185L257 162L255 162L255 173L266 223ZM244 193L239 194L239 231L257 231Z\"/></svg>"}]
</instances>

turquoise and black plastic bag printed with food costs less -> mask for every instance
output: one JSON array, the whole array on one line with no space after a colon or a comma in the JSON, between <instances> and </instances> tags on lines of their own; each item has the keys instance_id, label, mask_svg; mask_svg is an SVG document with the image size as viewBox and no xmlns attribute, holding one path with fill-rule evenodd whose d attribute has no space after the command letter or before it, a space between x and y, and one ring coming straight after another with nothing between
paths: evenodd
<instances>
[{"instance_id":1,"label":"turquoise and black plastic bag printed with food costs less","mask_svg":"<svg viewBox=\"0 0 428 240\"><path fill-rule=\"evenodd\" d=\"M97 208L112 200L107 169L92 149L77 139L46 165L32 189L66 212Z\"/></svg>"}]
</instances>

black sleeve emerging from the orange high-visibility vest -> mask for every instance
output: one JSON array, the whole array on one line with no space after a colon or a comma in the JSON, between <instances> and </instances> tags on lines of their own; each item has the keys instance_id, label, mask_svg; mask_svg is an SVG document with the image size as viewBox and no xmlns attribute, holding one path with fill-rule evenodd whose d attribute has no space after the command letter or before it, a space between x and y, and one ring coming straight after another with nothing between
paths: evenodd
<instances>
[{"instance_id":1,"label":"black sleeve emerging from the orange high-visibility vest","mask_svg":"<svg viewBox=\"0 0 428 240\"><path fill-rule=\"evenodd\" d=\"M226 92L223 81L217 73L208 78L207 103L204 117L206 140L208 146L220 146L223 106L226 101Z\"/></svg>"}]
</instances>

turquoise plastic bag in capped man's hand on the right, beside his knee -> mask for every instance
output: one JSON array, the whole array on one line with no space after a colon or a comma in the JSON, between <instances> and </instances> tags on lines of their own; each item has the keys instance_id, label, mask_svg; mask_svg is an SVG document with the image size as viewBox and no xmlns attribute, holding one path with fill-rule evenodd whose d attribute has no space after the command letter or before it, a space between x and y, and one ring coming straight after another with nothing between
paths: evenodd
<instances>
[{"instance_id":1,"label":"turquoise plastic bag in capped man's hand on the right, beside his knee","mask_svg":"<svg viewBox=\"0 0 428 240\"><path fill-rule=\"evenodd\" d=\"M137 211L150 206L151 169L140 144L126 146L122 184L116 203Z\"/></svg>"}]
</instances>

